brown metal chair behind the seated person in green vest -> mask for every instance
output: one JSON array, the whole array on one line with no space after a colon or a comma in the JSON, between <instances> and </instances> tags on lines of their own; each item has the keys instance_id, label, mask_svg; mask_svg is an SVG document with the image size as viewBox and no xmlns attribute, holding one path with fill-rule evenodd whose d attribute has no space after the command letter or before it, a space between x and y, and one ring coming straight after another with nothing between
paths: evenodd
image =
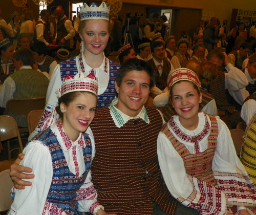
<instances>
[{"instance_id":1,"label":"brown metal chair behind the seated person in green vest","mask_svg":"<svg viewBox=\"0 0 256 215\"><path fill-rule=\"evenodd\" d=\"M29 112L45 109L45 103L46 97L10 99L6 103L6 114L16 119L19 126L19 133L28 133L27 116ZM22 126L20 122L24 122L27 126Z\"/></svg>"}]
</instances>

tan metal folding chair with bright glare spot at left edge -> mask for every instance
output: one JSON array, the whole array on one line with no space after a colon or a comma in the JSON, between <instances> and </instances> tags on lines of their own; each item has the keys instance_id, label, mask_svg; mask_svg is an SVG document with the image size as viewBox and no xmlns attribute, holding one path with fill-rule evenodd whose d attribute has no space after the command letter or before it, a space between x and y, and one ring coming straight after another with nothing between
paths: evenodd
<instances>
[{"instance_id":1,"label":"tan metal folding chair with bright glare spot at left edge","mask_svg":"<svg viewBox=\"0 0 256 215\"><path fill-rule=\"evenodd\" d=\"M22 139L20 138L18 125L16 120L9 115L0 116L0 136L1 141L7 140L8 147L8 159L11 159L11 152L16 149L20 149L20 152L23 151ZM19 148L13 148L10 150L10 139L18 139Z\"/></svg>"}]
</instances>

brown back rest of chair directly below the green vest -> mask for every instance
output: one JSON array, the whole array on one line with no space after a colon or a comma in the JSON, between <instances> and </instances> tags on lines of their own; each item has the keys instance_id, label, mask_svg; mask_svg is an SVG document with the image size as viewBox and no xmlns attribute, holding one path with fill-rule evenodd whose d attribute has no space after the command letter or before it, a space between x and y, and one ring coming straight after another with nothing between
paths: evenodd
<instances>
[{"instance_id":1,"label":"brown back rest of chair directly below the green vest","mask_svg":"<svg viewBox=\"0 0 256 215\"><path fill-rule=\"evenodd\" d=\"M27 116L33 110L45 109L46 97L10 99L6 103L6 114L13 113L20 116Z\"/></svg>"}]
</instances>

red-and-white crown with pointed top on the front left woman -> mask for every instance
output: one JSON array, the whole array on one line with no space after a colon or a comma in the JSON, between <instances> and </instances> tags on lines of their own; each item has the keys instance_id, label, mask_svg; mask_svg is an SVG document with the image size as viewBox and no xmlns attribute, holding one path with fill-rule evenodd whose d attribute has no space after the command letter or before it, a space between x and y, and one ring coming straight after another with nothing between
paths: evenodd
<instances>
[{"instance_id":1,"label":"red-and-white crown with pointed top on the front left woman","mask_svg":"<svg viewBox=\"0 0 256 215\"><path fill-rule=\"evenodd\" d=\"M62 83L60 95L75 91L87 91L94 93L97 96L98 93L98 81L94 74L90 73L85 76L83 72L77 73L74 77L67 75Z\"/></svg>"}]
</instances>

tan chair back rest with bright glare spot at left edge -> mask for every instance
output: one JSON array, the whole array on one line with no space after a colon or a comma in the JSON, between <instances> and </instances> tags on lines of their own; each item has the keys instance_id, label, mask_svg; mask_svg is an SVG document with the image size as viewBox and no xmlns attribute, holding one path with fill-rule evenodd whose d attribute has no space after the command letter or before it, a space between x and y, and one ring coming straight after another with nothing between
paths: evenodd
<instances>
[{"instance_id":1,"label":"tan chair back rest with bright glare spot at left edge","mask_svg":"<svg viewBox=\"0 0 256 215\"><path fill-rule=\"evenodd\" d=\"M18 124L12 116L0 116L0 136L1 141L9 140L14 137L20 137L18 131Z\"/></svg>"}]
</instances>

